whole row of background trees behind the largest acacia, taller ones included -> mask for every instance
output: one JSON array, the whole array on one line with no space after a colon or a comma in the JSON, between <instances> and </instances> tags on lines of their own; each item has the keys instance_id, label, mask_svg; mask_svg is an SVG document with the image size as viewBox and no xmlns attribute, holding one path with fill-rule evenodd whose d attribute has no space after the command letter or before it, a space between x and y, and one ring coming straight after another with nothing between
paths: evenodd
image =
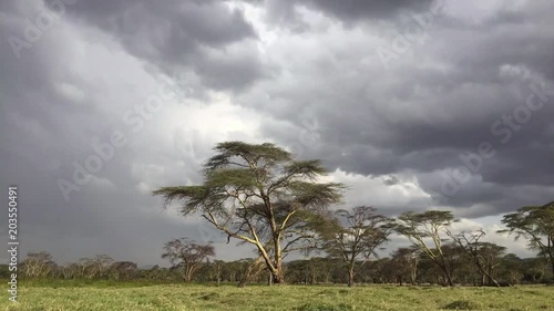
<instances>
[{"instance_id":1,"label":"whole row of background trees behind the largest acacia, taller ones included","mask_svg":"<svg viewBox=\"0 0 554 311\"><path fill-rule=\"evenodd\" d=\"M319 257L284 262L283 273L288 283L301 284L353 286L355 280L358 283L496 287L552 283L553 211L554 203L551 203L522 207L504 215L502 222L507 229L499 232L525 238L529 246L537 250L535 258L519 258L506 253L503 246L483 241L483 230L455 231L452 224L458 220L450 211L404 212L398 218L388 218L367 206L340 209L309 225L314 230L309 251ZM389 257L379 258L377 250L382 250L381 246L392 232L407 237L411 247L399 248ZM305 255L308 256L309 251ZM29 253L18 270L24 278L183 280L239 286L274 281L263 257L216 260L211 243L196 243L187 238L167 241L162 258L167 259L172 267L138 269L134 262L115 261L106 255L60 266L50 253L41 251ZM7 278L10 273L8 266L0 267L0 277Z\"/></svg>"}]
</instances>

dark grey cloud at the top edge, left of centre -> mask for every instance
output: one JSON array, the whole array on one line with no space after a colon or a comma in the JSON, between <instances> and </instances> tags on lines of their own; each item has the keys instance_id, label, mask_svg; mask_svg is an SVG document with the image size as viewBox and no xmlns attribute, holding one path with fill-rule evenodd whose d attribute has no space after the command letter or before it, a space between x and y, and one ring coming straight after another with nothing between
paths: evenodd
<instances>
[{"instance_id":1,"label":"dark grey cloud at the top edge, left of centre","mask_svg":"<svg viewBox=\"0 0 554 311\"><path fill-rule=\"evenodd\" d=\"M189 69L222 90L244 89L266 75L248 42L256 39L253 27L226 1L79 1L69 9L170 75ZM236 51L233 44L252 49Z\"/></svg>"}]
</instances>

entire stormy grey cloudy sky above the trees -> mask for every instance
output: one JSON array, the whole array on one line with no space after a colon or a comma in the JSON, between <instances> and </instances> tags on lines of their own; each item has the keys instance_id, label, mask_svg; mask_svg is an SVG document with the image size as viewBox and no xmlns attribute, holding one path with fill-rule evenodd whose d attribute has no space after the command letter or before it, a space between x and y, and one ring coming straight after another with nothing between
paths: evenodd
<instances>
[{"instance_id":1,"label":"entire stormy grey cloudy sky above the trees","mask_svg":"<svg viewBox=\"0 0 554 311\"><path fill-rule=\"evenodd\" d=\"M150 195L202 182L212 147L239 139L324 159L350 186L346 206L449 209L530 256L493 231L502 214L554 197L553 10L1 1L0 184L19 188L22 251L150 265L188 236L215 240L222 259L250 257Z\"/></svg>"}]
</instances>

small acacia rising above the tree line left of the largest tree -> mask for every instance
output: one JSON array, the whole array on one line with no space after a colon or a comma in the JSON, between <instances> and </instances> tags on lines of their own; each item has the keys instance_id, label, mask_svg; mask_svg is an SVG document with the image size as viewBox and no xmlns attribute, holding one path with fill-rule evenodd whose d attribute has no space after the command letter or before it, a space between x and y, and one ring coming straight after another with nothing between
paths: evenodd
<instances>
[{"instance_id":1,"label":"small acacia rising above the tree line left of the largest tree","mask_svg":"<svg viewBox=\"0 0 554 311\"><path fill-rule=\"evenodd\" d=\"M187 238L174 239L165 243L162 258L168 259L174 267L182 267L183 280L189 282L194 272L209 256L215 256L212 245L198 245Z\"/></svg>"}]
</instances>

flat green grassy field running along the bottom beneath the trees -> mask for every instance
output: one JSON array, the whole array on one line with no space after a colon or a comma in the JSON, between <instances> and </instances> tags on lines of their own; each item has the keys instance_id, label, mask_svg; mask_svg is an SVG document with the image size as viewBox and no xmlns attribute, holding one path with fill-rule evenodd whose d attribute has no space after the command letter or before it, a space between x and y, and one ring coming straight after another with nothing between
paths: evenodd
<instances>
[{"instance_id":1,"label":"flat green grassy field running along the bottom beneath the trees","mask_svg":"<svg viewBox=\"0 0 554 311\"><path fill-rule=\"evenodd\" d=\"M0 310L554 310L554 287L439 288L366 286L22 283L19 302L2 290Z\"/></svg>"}]
</instances>

